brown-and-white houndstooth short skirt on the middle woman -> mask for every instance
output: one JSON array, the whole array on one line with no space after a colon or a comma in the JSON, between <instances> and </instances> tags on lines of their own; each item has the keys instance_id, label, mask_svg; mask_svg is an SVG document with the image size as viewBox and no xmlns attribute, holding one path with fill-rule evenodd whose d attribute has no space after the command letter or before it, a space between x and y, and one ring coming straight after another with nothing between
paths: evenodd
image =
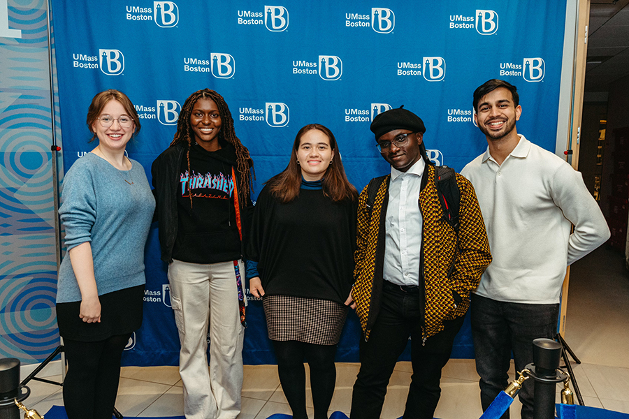
<instances>
[{"instance_id":1,"label":"brown-and-white houndstooth short skirt on the middle woman","mask_svg":"<svg viewBox=\"0 0 629 419\"><path fill-rule=\"evenodd\" d=\"M345 304L290 295L266 295L262 303L269 339L338 344L347 318Z\"/></svg>"}]
</instances>

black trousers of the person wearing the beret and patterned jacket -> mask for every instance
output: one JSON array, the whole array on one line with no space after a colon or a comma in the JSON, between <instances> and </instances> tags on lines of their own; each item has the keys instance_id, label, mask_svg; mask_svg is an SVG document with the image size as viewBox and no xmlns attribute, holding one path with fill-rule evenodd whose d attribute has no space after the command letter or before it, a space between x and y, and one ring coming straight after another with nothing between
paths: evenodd
<instances>
[{"instance_id":1,"label":"black trousers of the person wearing the beret and patterned jacket","mask_svg":"<svg viewBox=\"0 0 629 419\"><path fill-rule=\"evenodd\" d=\"M413 375L403 418L433 418L441 395L441 369L450 358L463 317L444 322L445 330L426 339L422 345L421 315L417 293L405 293L385 281L382 307L369 341L361 339L361 369L354 384L350 418L379 418L386 385L409 336Z\"/></svg>"}]
</instances>

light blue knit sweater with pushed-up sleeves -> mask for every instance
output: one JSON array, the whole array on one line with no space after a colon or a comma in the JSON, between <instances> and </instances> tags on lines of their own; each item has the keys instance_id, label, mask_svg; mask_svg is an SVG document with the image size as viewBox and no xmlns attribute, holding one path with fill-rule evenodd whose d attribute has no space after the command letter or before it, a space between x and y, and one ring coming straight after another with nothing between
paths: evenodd
<instances>
[{"instance_id":1,"label":"light blue knit sweater with pushed-up sleeves","mask_svg":"<svg viewBox=\"0 0 629 419\"><path fill-rule=\"evenodd\" d=\"M144 168L137 161L131 163L131 170L117 170L88 153L75 161L64 178L59 215L66 230L66 247L70 250L91 242L99 295L145 283L144 246L155 200ZM80 300L66 253L59 268L57 302Z\"/></svg>"}]
</instances>

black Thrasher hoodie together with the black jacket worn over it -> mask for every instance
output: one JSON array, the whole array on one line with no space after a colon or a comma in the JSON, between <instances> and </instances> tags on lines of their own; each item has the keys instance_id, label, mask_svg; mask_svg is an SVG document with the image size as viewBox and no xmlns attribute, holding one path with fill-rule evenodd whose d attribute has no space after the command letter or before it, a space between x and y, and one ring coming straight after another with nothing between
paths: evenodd
<instances>
[{"instance_id":1,"label":"black Thrasher hoodie together with the black jacket worn over it","mask_svg":"<svg viewBox=\"0 0 629 419\"><path fill-rule=\"evenodd\" d=\"M187 173L186 152L184 144L168 147L151 168L161 259L168 263L173 258L190 263L217 263L243 258L234 206L234 185L240 185L240 177L233 146L222 143L221 149L208 152L193 145L191 174ZM246 203L239 204L245 234L251 201L247 197Z\"/></svg>"}]
</instances>

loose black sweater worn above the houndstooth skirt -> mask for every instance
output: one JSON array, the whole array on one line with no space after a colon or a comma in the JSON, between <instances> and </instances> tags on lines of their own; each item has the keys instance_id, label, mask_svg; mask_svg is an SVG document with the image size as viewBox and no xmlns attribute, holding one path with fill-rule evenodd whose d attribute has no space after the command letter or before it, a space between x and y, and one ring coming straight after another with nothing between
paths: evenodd
<instances>
[{"instance_id":1,"label":"loose black sweater worn above the houndstooth skirt","mask_svg":"<svg viewBox=\"0 0 629 419\"><path fill-rule=\"evenodd\" d=\"M344 303L352 289L356 203L333 203L321 189L301 189L280 203L265 186L254 207L250 259L266 295Z\"/></svg>"}]
</instances>

